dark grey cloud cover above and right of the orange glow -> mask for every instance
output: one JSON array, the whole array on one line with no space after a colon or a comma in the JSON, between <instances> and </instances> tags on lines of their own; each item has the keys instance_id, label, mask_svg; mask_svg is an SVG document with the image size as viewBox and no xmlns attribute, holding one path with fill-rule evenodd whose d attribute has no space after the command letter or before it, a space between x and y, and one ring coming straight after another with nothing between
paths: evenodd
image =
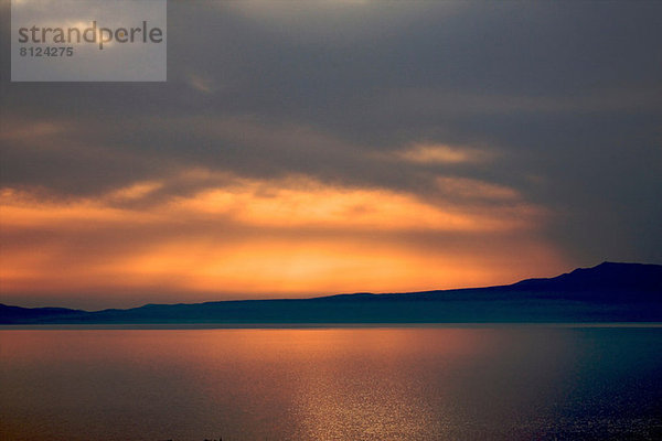
<instances>
[{"instance_id":1,"label":"dark grey cloud cover above and right of the orange glow","mask_svg":"<svg viewBox=\"0 0 662 441\"><path fill-rule=\"evenodd\" d=\"M167 84L11 84L4 8L1 184L95 195L204 166L438 201L437 176L474 179L556 213L547 235L577 265L660 262L661 13L660 2L170 2ZM376 154L423 142L498 154L431 165Z\"/></svg>"}]
</instances>

